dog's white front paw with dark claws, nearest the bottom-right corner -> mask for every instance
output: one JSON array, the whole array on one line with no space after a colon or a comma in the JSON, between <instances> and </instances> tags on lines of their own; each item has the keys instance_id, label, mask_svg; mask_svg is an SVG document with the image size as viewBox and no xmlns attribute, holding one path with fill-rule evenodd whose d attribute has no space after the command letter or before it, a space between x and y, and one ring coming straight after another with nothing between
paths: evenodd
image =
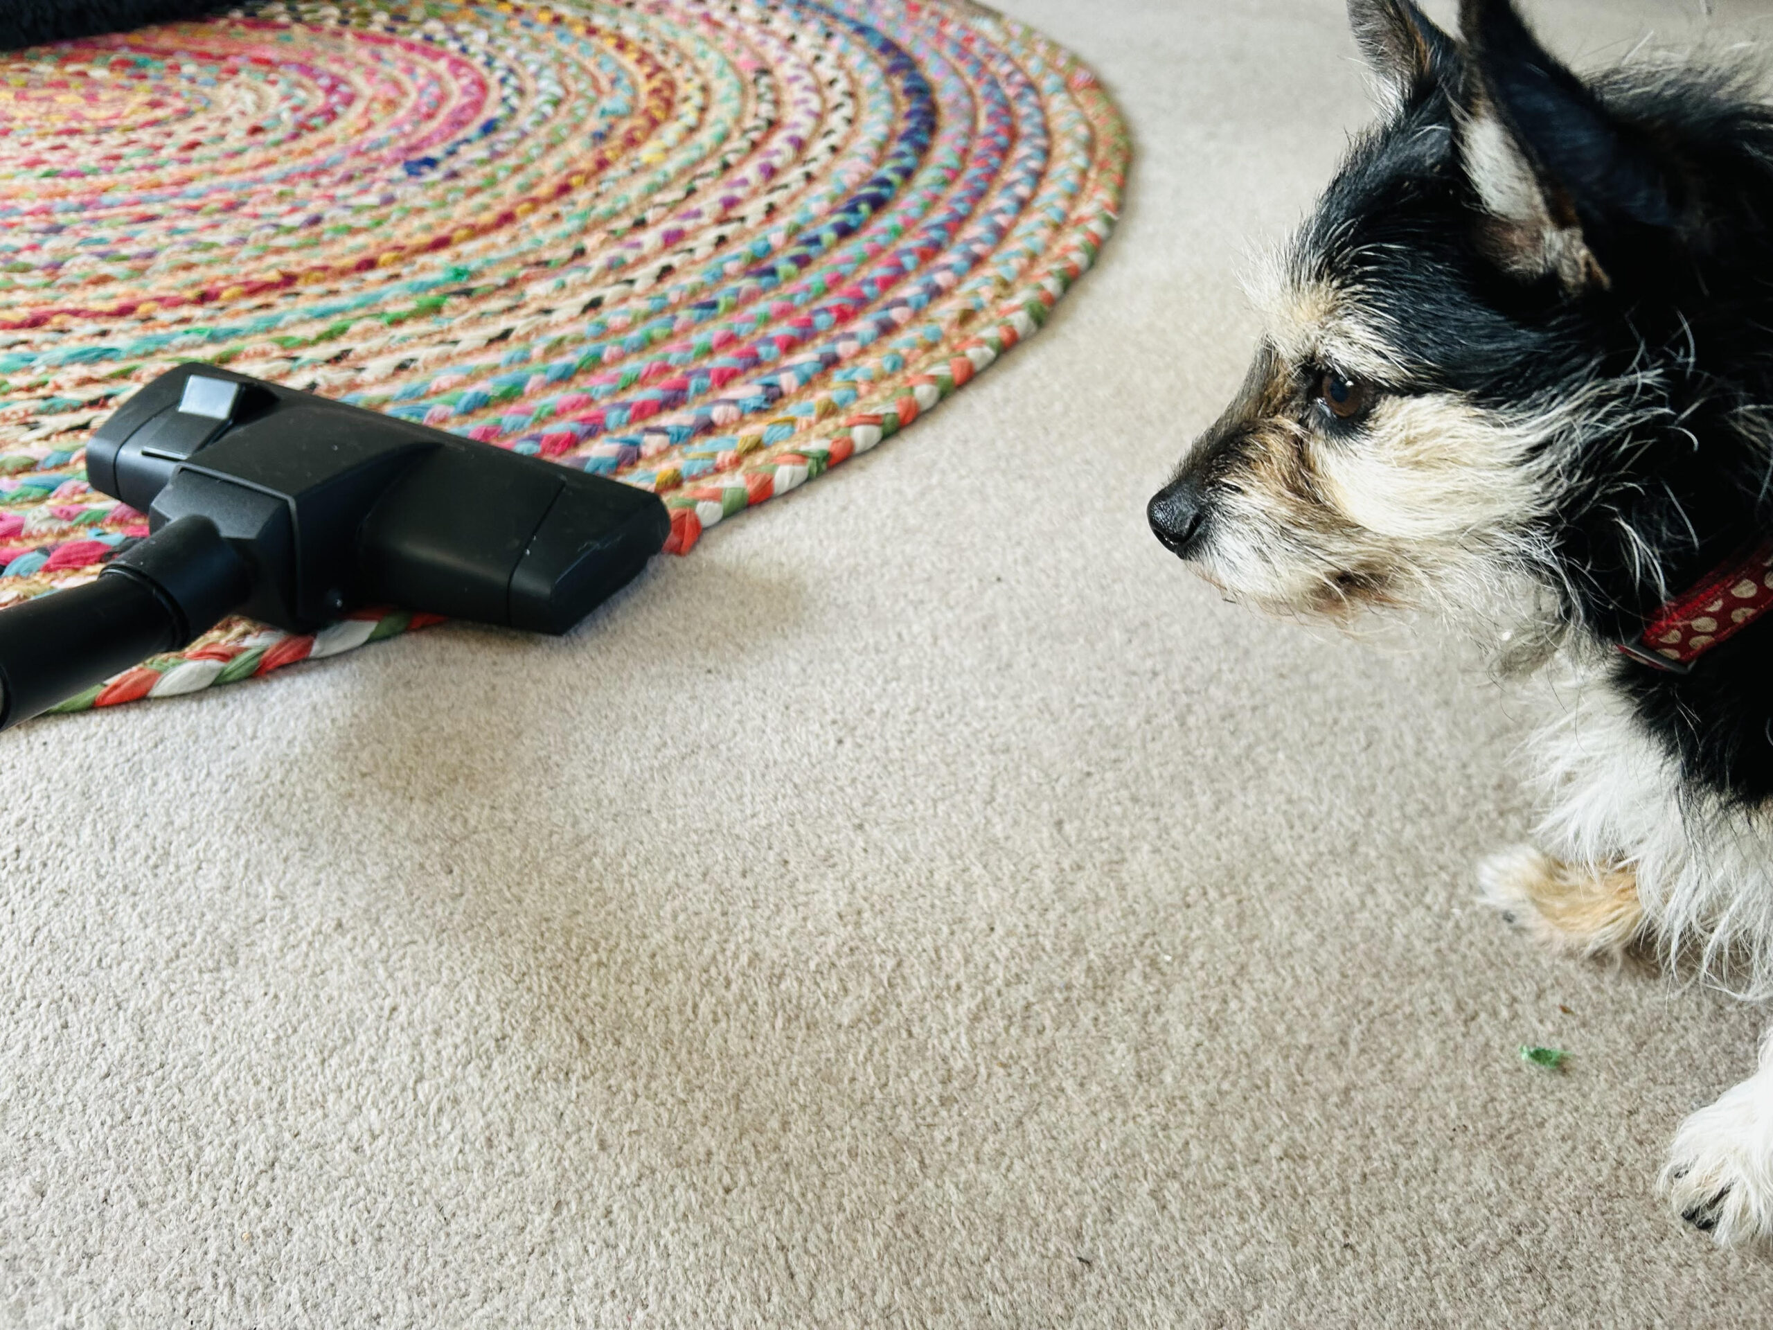
<instances>
[{"instance_id":1,"label":"dog's white front paw with dark claws, nearest the bottom-right corner","mask_svg":"<svg viewBox=\"0 0 1773 1330\"><path fill-rule=\"evenodd\" d=\"M1681 1123L1661 1188L1720 1243L1773 1238L1773 1030L1761 1069Z\"/></svg>"}]
</instances>

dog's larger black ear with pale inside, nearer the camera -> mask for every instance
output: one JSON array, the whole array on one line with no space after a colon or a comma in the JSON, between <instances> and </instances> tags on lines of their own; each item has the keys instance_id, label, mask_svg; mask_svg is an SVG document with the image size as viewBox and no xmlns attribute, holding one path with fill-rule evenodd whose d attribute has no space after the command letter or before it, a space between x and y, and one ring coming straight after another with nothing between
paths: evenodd
<instances>
[{"instance_id":1,"label":"dog's larger black ear with pale inside, nearer the camera","mask_svg":"<svg viewBox=\"0 0 1773 1330\"><path fill-rule=\"evenodd\" d=\"M1649 144L1546 53L1511 0L1461 0L1459 27L1459 151L1484 206L1484 248L1507 271L1555 275L1573 294L1610 286L1610 236L1675 223Z\"/></svg>"}]
</instances>

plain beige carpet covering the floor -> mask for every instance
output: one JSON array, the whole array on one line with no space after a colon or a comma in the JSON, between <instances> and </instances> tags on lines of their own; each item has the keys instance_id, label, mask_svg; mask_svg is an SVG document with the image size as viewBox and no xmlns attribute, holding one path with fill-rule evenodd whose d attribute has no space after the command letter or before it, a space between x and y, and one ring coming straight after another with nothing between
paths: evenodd
<instances>
[{"instance_id":1,"label":"plain beige carpet covering the floor","mask_svg":"<svg viewBox=\"0 0 1773 1330\"><path fill-rule=\"evenodd\" d=\"M1145 532L1243 372L1239 250L1367 115L1340 4L1012 9L1126 106L1133 202L927 424L571 640L0 739L0 1319L1768 1321L1773 1257L1652 1197L1761 1014L1470 903L1525 702Z\"/></svg>"}]
</instances>

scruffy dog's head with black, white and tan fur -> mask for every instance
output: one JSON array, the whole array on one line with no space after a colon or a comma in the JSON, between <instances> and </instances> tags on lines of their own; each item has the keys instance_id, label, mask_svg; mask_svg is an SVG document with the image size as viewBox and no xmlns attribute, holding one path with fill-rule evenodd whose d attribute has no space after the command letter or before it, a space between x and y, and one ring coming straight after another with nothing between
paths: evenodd
<instances>
[{"instance_id":1,"label":"scruffy dog's head with black, white and tan fur","mask_svg":"<svg viewBox=\"0 0 1773 1330\"><path fill-rule=\"evenodd\" d=\"M1243 390L1149 518L1266 608L1463 608L1544 580L1573 450L1672 419L1645 346L1704 190L1675 92L1585 85L1507 0L1464 0L1463 41L1411 0L1349 12L1386 113L1255 282Z\"/></svg>"}]
</instances>

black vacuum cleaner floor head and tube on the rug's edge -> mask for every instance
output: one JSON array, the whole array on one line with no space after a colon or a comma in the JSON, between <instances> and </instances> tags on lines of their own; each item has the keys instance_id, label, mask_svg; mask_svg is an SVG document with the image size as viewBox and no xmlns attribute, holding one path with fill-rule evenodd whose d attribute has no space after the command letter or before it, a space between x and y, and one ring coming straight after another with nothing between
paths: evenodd
<instances>
[{"instance_id":1,"label":"black vacuum cleaner floor head and tube on the rug's edge","mask_svg":"<svg viewBox=\"0 0 1773 1330\"><path fill-rule=\"evenodd\" d=\"M0 729L230 614L291 633L360 605L564 633L670 536L656 495L489 443L179 365L87 443L149 536L0 610Z\"/></svg>"}]
</instances>

